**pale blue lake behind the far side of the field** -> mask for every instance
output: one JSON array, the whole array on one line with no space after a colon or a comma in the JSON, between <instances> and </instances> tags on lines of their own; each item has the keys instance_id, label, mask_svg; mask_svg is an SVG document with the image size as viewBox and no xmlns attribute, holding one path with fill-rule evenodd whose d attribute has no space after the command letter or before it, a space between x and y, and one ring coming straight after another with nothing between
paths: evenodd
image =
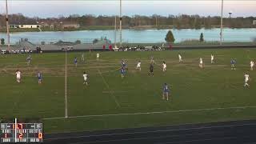
<instances>
[{"instance_id":1,"label":"pale blue lake behind the far side of the field","mask_svg":"<svg viewBox=\"0 0 256 144\"><path fill-rule=\"evenodd\" d=\"M168 30L122 30L122 42L130 43L155 43L165 42ZM199 39L201 33L206 41L219 41L220 29L182 29L172 30L175 42L182 42L186 39ZM11 43L18 42L20 38L28 38L30 42L38 44L44 42L69 41L91 43L94 38L106 37L114 42L114 30L82 30L64 32L22 32L10 34ZM0 33L0 38L6 39L5 33ZM252 42L256 38L256 29L223 29L224 42ZM119 42L119 32L117 31L117 42Z\"/></svg>"}]
</instances>

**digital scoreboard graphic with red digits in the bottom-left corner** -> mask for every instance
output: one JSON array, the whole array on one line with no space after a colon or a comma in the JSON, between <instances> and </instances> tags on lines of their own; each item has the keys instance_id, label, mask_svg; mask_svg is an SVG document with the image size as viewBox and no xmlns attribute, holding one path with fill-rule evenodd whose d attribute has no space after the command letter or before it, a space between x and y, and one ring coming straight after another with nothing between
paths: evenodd
<instances>
[{"instance_id":1,"label":"digital scoreboard graphic with red digits in the bottom-left corner","mask_svg":"<svg viewBox=\"0 0 256 144\"><path fill-rule=\"evenodd\" d=\"M42 123L1 123L2 142L42 142Z\"/></svg>"}]
</instances>

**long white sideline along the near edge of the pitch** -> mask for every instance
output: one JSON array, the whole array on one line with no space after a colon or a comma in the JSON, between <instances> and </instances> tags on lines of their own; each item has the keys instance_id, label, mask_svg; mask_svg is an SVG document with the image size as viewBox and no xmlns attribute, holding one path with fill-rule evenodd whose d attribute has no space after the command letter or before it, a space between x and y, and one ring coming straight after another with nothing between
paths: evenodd
<instances>
[{"instance_id":1,"label":"long white sideline along the near edge of the pitch","mask_svg":"<svg viewBox=\"0 0 256 144\"><path fill-rule=\"evenodd\" d=\"M110 116L122 116L122 115L165 114L165 113L183 113L183 112L210 111L210 110L234 110L234 109L248 109L248 108L256 108L256 106L219 107L219 108L209 108L209 109L170 110L170 111L124 113L124 114L80 115L80 116L70 116L68 118L92 118L92 117L110 117ZM65 118L64 117L42 118L42 120L54 120L54 119L65 119Z\"/></svg>"}]
</instances>

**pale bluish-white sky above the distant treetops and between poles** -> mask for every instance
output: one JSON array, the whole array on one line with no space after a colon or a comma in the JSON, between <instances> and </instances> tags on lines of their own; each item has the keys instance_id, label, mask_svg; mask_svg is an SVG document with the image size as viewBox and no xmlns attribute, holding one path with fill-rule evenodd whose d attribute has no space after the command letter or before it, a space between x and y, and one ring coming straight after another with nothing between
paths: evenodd
<instances>
[{"instance_id":1,"label":"pale bluish-white sky above the distant treetops and between poles","mask_svg":"<svg viewBox=\"0 0 256 144\"><path fill-rule=\"evenodd\" d=\"M5 0L0 0L0 14L6 13ZM114 15L119 14L118 0L8 0L9 14L22 13L29 17L59 17L70 14ZM256 17L256 0L224 0L224 17ZM201 16L219 16L221 0L122 0L124 15L168 16L169 14L199 14Z\"/></svg>"}]
</instances>

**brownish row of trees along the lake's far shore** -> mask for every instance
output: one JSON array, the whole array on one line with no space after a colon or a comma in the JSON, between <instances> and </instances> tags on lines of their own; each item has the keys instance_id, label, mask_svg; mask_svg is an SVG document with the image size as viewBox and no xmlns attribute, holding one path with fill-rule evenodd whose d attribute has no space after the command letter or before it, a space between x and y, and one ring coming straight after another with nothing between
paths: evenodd
<instances>
[{"instance_id":1,"label":"brownish row of trees along the lake's far shore","mask_svg":"<svg viewBox=\"0 0 256 144\"><path fill-rule=\"evenodd\" d=\"M29 18L22 14L10 14L10 23L14 24L26 24L31 22L77 22L80 26L114 26L115 16L99 15L95 16L92 14L78 15L72 14L68 17L59 16L58 18ZM117 17L117 26L118 26ZM223 18L223 26L230 28L252 28L256 27L253 25L253 20L256 17L237 17L237 18ZM154 14L152 16L143 16L135 14L133 16L123 16L122 25L127 27L136 26L172 26L176 29L182 28L214 28L220 26L221 18L218 16L199 16L199 15L187 15L181 14L178 16L169 15L161 16ZM0 14L0 26L6 26L5 14Z\"/></svg>"}]
</instances>

